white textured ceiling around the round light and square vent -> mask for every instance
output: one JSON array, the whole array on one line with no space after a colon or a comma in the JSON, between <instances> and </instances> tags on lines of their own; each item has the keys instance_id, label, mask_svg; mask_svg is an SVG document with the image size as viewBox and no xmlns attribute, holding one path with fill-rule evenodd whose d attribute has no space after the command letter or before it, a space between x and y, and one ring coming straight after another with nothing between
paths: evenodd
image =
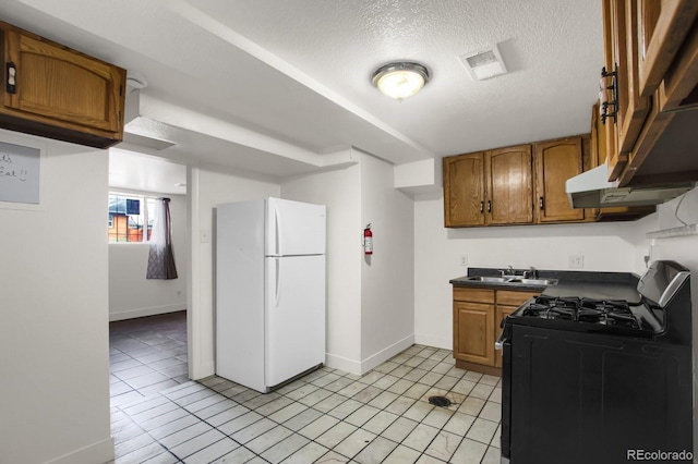
<instances>
[{"instance_id":1,"label":"white textured ceiling around the round light and square vent","mask_svg":"<svg viewBox=\"0 0 698 464\"><path fill-rule=\"evenodd\" d=\"M158 156L270 175L359 148L394 163L589 131L599 0L5 0L3 21L148 82L135 109L170 129ZM508 74L460 57L498 44ZM371 73L417 60L401 102ZM133 148L133 147L132 147Z\"/></svg>"}]
</instances>

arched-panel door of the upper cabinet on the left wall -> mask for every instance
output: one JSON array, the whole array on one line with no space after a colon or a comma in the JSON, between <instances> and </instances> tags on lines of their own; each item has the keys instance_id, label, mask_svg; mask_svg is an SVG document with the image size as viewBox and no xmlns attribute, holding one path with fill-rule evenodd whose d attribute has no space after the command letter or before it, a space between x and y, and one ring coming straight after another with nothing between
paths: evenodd
<instances>
[{"instance_id":1,"label":"arched-panel door of the upper cabinet on the left wall","mask_svg":"<svg viewBox=\"0 0 698 464\"><path fill-rule=\"evenodd\" d=\"M5 32L5 56L16 66L15 93L4 106L25 113L119 132L123 70L15 30Z\"/></svg>"}]
</instances>

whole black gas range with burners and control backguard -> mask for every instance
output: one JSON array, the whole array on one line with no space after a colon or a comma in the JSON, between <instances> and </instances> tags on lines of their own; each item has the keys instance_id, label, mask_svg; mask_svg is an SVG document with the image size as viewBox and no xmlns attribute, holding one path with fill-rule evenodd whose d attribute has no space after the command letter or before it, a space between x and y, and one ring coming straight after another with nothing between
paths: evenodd
<instances>
[{"instance_id":1,"label":"whole black gas range with burners and control backguard","mask_svg":"<svg viewBox=\"0 0 698 464\"><path fill-rule=\"evenodd\" d=\"M676 262L655 261L630 301L543 294L509 315L497 340L502 461L691 453L689 277Z\"/></svg>"}]
</instances>

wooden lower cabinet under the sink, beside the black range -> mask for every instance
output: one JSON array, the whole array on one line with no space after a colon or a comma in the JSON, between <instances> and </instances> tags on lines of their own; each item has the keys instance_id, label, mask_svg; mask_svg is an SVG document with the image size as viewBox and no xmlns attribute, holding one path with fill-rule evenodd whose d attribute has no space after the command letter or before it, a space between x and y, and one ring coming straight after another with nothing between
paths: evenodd
<instances>
[{"instance_id":1,"label":"wooden lower cabinet under the sink, beside the black range","mask_svg":"<svg viewBox=\"0 0 698 464\"><path fill-rule=\"evenodd\" d=\"M454 286L456 367L498 376L502 354L494 350L502 320L540 292Z\"/></svg>"}]
</instances>

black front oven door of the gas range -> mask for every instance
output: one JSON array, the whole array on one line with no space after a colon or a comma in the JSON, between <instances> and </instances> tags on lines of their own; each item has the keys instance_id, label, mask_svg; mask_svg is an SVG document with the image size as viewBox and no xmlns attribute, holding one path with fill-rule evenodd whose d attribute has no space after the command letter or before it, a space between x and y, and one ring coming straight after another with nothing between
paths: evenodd
<instances>
[{"instance_id":1,"label":"black front oven door of the gas range","mask_svg":"<svg viewBox=\"0 0 698 464\"><path fill-rule=\"evenodd\" d=\"M643 450L693 450L690 346L509 326L503 456L516 464L617 464Z\"/></svg>"}]
</instances>

